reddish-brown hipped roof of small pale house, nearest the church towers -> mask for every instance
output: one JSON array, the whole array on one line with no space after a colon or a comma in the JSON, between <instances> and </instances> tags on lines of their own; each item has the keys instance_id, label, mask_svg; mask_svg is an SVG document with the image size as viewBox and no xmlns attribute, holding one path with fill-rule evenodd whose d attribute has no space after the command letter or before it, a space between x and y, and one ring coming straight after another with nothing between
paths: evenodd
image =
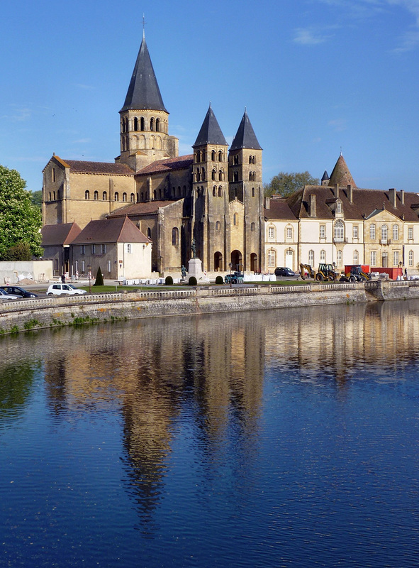
<instances>
[{"instance_id":1,"label":"reddish-brown hipped roof of small pale house, nearest the church towers","mask_svg":"<svg viewBox=\"0 0 419 568\"><path fill-rule=\"evenodd\" d=\"M150 242L128 217L119 217L89 222L72 244Z\"/></svg>"}]
</instances>

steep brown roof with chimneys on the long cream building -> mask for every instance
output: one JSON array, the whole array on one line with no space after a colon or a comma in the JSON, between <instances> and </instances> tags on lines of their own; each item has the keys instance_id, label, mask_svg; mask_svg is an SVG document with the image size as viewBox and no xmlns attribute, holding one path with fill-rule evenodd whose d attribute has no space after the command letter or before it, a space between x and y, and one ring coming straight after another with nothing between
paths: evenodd
<instances>
[{"instance_id":1,"label":"steep brown roof with chimneys on the long cream building","mask_svg":"<svg viewBox=\"0 0 419 568\"><path fill-rule=\"evenodd\" d=\"M303 189L298 190L287 198L286 202L298 219L308 219L310 196L316 197L316 218L317 219L334 219L335 215L330 207L337 196L335 195L335 187L328 185L306 185ZM393 207L389 190L366 190L361 188L352 189L352 203L350 202L349 191L346 187L340 188L339 199L342 201L342 212L345 219L354 219L361 221L364 217L369 217L372 212L382 210L383 206L386 211L392 213L396 217L401 218L404 215L406 222L418 222L418 214L415 213L415 207L419 207L417 193L404 192L404 204L401 203L401 192L396 193L396 206Z\"/></svg>"}]
</instances>

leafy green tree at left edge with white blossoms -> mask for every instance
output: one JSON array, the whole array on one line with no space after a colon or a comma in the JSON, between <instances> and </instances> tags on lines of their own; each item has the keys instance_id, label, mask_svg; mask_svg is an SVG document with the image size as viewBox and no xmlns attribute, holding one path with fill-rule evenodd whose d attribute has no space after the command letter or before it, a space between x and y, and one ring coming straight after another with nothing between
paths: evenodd
<instances>
[{"instance_id":1,"label":"leafy green tree at left edge with white blossoms","mask_svg":"<svg viewBox=\"0 0 419 568\"><path fill-rule=\"evenodd\" d=\"M0 165L0 261L10 258L10 249L27 244L31 256L42 256L41 212L32 203L32 192L16 170Z\"/></svg>"}]
</instances>

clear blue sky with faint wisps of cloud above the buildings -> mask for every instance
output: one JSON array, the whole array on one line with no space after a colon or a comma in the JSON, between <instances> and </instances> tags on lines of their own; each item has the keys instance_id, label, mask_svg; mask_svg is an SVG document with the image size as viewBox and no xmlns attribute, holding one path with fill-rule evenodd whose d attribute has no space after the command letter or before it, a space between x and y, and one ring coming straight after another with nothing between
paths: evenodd
<instances>
[{"instance_id":1,"label":"clear blue sky with faint wisps of cloud above the buildings","mask_svg":"<svg viewBox=\"0 0 419 568\"><path fill-rule=\"evenodd\" d=\"M211 102L228 142L245 107L281 170L419 192L419 0L4 2L0 163L40 190L53 152L113 161L143 34L179 153Z\"/></svg>"}]
</instances>

